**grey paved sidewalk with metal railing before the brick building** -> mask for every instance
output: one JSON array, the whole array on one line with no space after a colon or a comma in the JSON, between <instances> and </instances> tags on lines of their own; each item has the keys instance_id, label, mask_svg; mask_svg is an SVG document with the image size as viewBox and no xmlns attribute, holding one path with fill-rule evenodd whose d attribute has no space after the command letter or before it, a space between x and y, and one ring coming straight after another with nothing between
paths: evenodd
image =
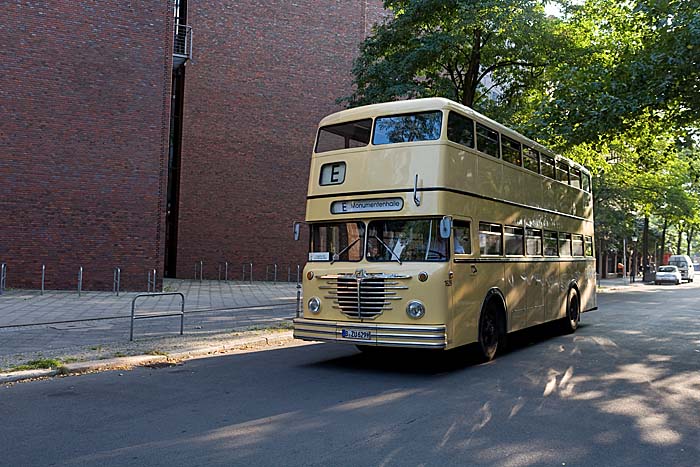
<instances>
[{"instance_id":1,"label":"grey paved sidewalk with metal railing before the brick building","mask_svg":"<svg viewBox=\"0 0 700 467\"><path fill-rule=\"evenodd\" d=\"M234 341L289 329L296 283L167 280L165 292L185 296L180 318L142 319L129 341L131 304L138 292L6 290L0 296L0 370L33 360L75 362L139 354L226 347ZM143 297L136 314L180 310L179 296ZM254 330L256 332L251 333Z\"/></svg>"}]
</instances>

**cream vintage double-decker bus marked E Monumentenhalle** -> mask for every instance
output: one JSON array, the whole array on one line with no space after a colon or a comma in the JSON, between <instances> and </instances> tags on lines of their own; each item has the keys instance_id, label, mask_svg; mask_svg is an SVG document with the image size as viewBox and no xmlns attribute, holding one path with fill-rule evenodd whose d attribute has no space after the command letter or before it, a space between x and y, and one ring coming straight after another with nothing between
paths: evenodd
<instances>
[{"instance_id":1,"label":"cream vintage double-decker bus marked E Monumentenhalle","mask_svg":"<svg viewBox=\"0 0 700 467\"><path fill-rule=\"evenodd\" d=\"M596 308L591 178L447 99L369 105L319 126L306 206L309 341L485 359L508 333Z\"/></svg>"}]
</instances>

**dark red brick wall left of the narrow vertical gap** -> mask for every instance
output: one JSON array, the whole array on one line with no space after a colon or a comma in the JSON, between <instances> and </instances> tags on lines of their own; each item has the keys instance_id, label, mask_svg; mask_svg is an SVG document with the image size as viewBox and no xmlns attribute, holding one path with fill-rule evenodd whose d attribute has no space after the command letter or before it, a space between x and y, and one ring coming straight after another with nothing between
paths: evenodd
<instances>
[{"instance_id":1,"label":"dark red brick wall left of the narrow vertical gap","mask_svg":"<svg viewBox=\"0 0 700 467\"><path fill-rule=\"evenodd\" d=\"M162 270L172 13L3 2L0 262L9 287L144 289Z\"/></svg>"}]
</instances>

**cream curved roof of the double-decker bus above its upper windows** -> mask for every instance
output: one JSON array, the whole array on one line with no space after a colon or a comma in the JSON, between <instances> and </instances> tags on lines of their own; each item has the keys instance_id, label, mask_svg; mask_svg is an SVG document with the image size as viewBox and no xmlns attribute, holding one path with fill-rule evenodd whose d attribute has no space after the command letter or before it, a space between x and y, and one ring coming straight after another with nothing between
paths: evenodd
<instances>
[{"instance_id":1,"label":"cream curved roof of the double-decker bus above its upper windows","mask_svg":"<svg viewBox=\"0 0 700 467\"><path fill-rule=\"evenodd\" d=\"M545 152L550 155L555 155L550 149L541 145L537 141L533 141L530 138L521 135L515 130L512 130L489 117L480 114L476 110L462 105L458 102L452 101L450 99L445 99L444 97L428 97L423 99L408 99L402 101L392 101L383 102L381 104L370 104L361 107L354 107L352 109L341 110L340 112L335 112L324 117L319 126L334 125L336 123L348 122L352 120L360 120L362 118L374 118L383 115L394 115L412 112L422 112L426 110L456 110L462 114L473 118L474 120L485 123L494 130L497 130L501 134L506 136L514 137L521 140L528 146L531 146L541 152ZM584 170L586 173L590 173L586 167L578 164L571 159L566 157L556 155L557 158L564 159L568 161L571 165L576 166Z\"/></svg>"}]
</instances>

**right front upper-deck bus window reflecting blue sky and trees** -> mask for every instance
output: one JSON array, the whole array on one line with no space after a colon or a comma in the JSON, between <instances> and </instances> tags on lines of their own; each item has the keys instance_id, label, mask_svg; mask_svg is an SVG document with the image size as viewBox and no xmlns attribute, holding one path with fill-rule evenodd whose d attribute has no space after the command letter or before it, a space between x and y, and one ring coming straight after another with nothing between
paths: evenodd
<instances>
[{"instance_id":1,"label":"right front upper-deck bus window reflecting blue sky and trees","mask_svg":"<svg viewBox=\"0 0 700 467\"><path fill-rule=\"evenodd\" d=\"M439 110L378 117L372 144L432 141L440 138L442 112Z\"/></svg>"}]
</instances>

